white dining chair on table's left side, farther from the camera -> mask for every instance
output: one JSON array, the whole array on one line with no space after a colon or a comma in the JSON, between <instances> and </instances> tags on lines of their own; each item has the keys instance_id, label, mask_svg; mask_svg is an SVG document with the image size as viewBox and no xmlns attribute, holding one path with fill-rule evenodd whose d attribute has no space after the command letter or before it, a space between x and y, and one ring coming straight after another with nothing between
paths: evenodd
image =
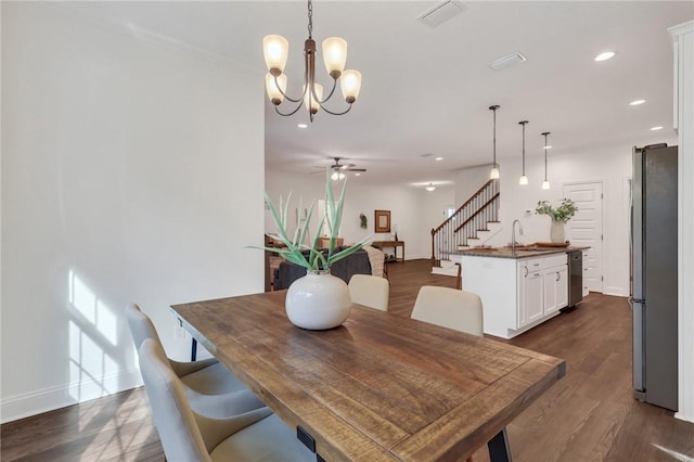
<instances>
[{"instance_id":1,"label":"white dining chair on table's left side, farther from the camera","mask_svg":"<svg viewBox=\"0 0 694 462\"><path fill-rule=\"evenodd\" d=\"M138 305L126 307L126 318L137 349L151 338L162 350L164 346L154 323ZM181 380L191 406L209 416L229 416L265 407L245 385L215 358L180 362L168 360L171 370Z\"/></svg>"}]
</instances>

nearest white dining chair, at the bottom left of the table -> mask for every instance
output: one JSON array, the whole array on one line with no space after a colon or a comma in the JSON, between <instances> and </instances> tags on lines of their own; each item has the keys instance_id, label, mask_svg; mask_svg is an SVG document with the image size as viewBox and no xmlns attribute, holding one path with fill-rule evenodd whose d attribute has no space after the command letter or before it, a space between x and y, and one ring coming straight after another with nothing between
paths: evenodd
<instances>
[{"instance_id":1,"label":"nearest white dining chair, at the bottom left of the table","mask_svg":"<svg viewBox=\"0 0 694 462\"><path fill-rule=\"evenodd\" d=\"M272 411L262 407L226 419L193 410L164 349L147 338L140 371L166 460L185 462L310 461L316 455Z\"/></svg>"}]
</instances>

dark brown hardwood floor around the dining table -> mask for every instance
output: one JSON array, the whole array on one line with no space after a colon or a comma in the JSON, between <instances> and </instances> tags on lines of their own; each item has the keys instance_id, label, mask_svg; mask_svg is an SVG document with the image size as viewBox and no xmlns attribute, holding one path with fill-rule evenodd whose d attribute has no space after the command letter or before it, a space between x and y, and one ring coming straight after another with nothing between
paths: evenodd
<instances>
[{"instance_id":1,"label":"dark brown hardwood floor around the dining table","mask_svg":"<svg viewBox=\"0 0 694 462\"><path fill-rule=\"evenodd\" d=\"M422 285L455 286L428 260L388 267L389 311L410 316ZM464 286L464 280L463 280ZM631 395L627 300L580 307L509 343L564 358L567 374L509 426L515 461L694 461L694 424ZM141 388L2 425L2 461L163 461ZM476 462L488 461L486 448Z\"/></svg>"}]
</instances>

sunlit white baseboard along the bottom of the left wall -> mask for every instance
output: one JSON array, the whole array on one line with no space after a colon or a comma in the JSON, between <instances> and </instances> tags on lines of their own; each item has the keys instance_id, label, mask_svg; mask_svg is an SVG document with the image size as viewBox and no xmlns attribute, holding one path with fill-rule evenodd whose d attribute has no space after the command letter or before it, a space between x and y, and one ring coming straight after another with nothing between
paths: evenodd
<instances>
[{"instance_id":1,"label":"sunlit white baseboard along the bottom of the left wall","mask_svg":"<svg viewBox=\"0 0 694 462\"><path fill-rule=\"evenodd\" d=\"M102 377L101 384L66 384L51 388L16 395L0 401L0 423L16 421L55 409L90 401L107 395L142 385L142 376L137 369Z\"/></svg>"}]
</instances>

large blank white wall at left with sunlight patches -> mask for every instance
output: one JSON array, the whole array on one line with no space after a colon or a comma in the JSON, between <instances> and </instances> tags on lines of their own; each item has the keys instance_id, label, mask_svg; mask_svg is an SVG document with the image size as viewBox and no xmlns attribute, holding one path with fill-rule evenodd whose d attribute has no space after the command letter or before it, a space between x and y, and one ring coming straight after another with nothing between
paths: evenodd
<instances>
[{"instance_id":1,"label":"large blank white wall at left with sunlight patches","mask_svg":"<svg viewBox=\"0 0 694 462\"><path fill-rule=\"evenodd\" d=\"M140 382L123 317L262 291L257 75L2 2L2 420Z\"/></svg>"}]
</instances>

